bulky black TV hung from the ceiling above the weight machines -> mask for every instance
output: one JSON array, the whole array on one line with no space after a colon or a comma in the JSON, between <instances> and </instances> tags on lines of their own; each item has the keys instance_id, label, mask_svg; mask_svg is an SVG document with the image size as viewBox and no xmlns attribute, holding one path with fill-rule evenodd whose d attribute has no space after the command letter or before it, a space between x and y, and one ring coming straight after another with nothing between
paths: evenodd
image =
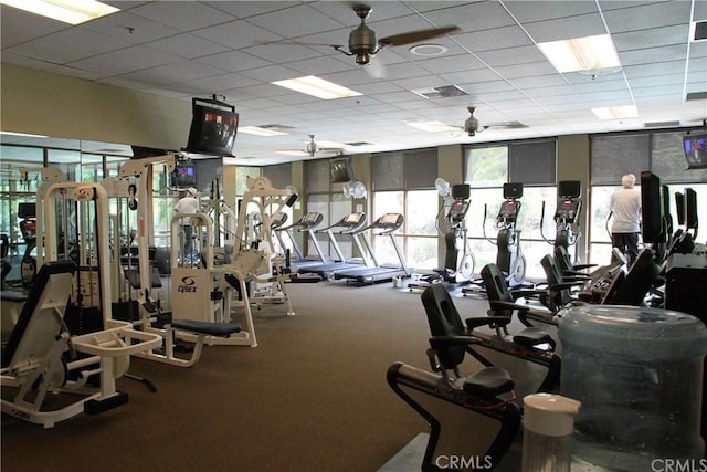
<instances>
[{"instance_id":1,"label":"bulky black TV hung from the ceiling above the weight machines","mask_svg":"<svg viewBox=\"0 0 707 472\"><path fill-rule=\"evenodd\" d=\"M234 108L218 108L192 102L191 128L187 151L233 156L239 114Z\"/></svg>"}]
</instances>

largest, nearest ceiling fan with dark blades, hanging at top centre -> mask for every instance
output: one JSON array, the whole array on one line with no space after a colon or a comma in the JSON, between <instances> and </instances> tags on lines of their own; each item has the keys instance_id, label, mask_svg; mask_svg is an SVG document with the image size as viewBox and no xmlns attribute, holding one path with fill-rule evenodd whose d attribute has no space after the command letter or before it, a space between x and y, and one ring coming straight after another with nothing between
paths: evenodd
<instances>
[{"instance_id":1,"label":"largest, nearest ceiling fan with dark blades, hanging at top centre","mask_svg":"<svg viewBox=\"0 0 707 472\"><path fill-rule=\"evenodd\" d=\"M409 31L407 33L393 34L391 36L381 38L380 40L376 40L376 32L366 25L366 19L371 13L372 8L362 4L355 3L352 6L354 11L361 19L361 24L359 24L355 30L349 33L349 45L348 50L342 44L315 44L315 43L300 43L294 41L295 44L302 45L318 45L318 46L329 46L335 50L346 54L356 56L356 63L359 65L366 65L371 62L371 56L378 53L382 48L386 46L400 46L405 44L412 44L420 41L431 40L433 38L443 36L453 31L457 31L458 27L441 27L441 28L431 28L428 30L418 30L418 31ZM281 41L274 41L281 42Z\"/></svg>"}]
</instances>

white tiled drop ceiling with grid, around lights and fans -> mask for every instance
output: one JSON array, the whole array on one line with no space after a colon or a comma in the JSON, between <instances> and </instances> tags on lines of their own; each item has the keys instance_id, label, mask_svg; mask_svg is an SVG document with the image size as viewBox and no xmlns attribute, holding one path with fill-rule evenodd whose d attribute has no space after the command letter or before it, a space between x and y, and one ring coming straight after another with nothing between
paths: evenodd
<instances>
[{"instance_id":1,"label":"white tiled drop ceiling with grid, around lights and fans","mask_svg":"<svg viewBox=\"0 0 707 472\"><path fill-rule=\"evenodd\" d=\"M442 55L416 55L414 44L383 48L373 57L383 78L354 57L314 45L347 44L359 23L350 2L106 3L120 12L76 27L2 7L2 62L177 99L222 95L236 107L241 126L289 127L277 137L239 133L235 155L247 165L307 158L275 151L304 149L308 135L327 146L350 144L344 151L357 154L655 124L692 127L707 117L707 41L690 39L690 27L707 20L706 1L367 2L367 24L378 38L460 28L426 41L446 49ZM560 74L536 45L605 33L622 63L611 74ZM362 95L324 101L271 84L302 75ZM465 95L412 92L451 86ZM426 133L405 125L461 127L471 105L481 126L526 127L490 126L469 137L461 128ZM639 118L605 122L591 112L623 105L635 105Z\"/></svg>"}]
</instances>

